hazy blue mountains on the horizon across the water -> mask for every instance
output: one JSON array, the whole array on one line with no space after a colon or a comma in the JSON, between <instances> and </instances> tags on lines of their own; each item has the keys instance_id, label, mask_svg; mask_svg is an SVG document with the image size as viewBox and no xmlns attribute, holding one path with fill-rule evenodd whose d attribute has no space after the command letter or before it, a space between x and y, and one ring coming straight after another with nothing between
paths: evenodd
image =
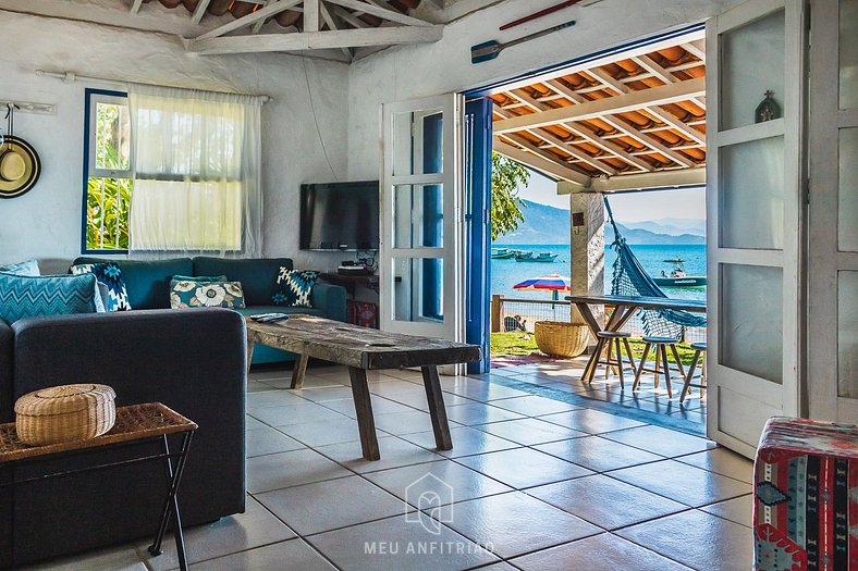
<instances>
[{"instance_id":1,"label":"hazy blue mountains on the horizon across the water","mask_svg":"<svg viewBox=\"0 0 858 571\"><path fill-rule=\"evenodd\" d=\"M571 221L568 210L540 204L529 200L525 200L525 204L527 208L522 209L522 213L525 216L524 222L515 232L499 237L494 241L495 245L569 243ZM667 221L670 221L670 223ZM691 223L699 223L701 229L696 232L692 226L687 231L683 229L684 225ZM649 227L652 228L662 226L664 232L651 231L641 227L641 224L648 224ZM653 223L635 222L630 223L628 226L617 223L620 232L629 244L706 244L706 236L703 235L702 228L704 225L704 221L685 219L663 219ZM614 241L614 229L610 224L605 225L604 238L608 244Z\"/></svg>"}]
</instances>

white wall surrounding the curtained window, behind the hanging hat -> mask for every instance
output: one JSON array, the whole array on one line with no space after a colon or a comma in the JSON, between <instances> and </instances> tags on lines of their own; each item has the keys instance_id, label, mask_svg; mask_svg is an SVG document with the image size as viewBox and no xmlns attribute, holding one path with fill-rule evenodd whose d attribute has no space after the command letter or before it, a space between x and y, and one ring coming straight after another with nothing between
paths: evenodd
<instances>
[{"instance_id":1,"label":"white wall surrounding the curtained window, behind the hanging hat","mask_svg":"<svg viewBox=\"0 0 858 571\"><path fill-rule=\"evenodd\" d=\"M174 36L2 11L0 37L0 100L57 105L56 115L15 116L15 134L36 148L44 173L28 194L0 200L0 263L37 258L44 270L64 271L81 253L84 89L110 86L64 84L37 77L37 69L272 96L262 111L263 253L292 257L297 268L330 269L344 258L298 250L298 185L346 177L345 65L285 54L206 58L185 53Z\"/></svg>"}]
</instances>

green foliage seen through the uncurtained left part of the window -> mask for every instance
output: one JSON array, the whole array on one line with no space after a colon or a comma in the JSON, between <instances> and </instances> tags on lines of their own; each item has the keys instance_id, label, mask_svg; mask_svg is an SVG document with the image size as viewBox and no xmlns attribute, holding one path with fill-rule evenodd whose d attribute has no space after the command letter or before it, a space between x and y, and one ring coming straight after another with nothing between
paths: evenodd
<instances>
[{"instance_id":1,"label":"green foliage seen through the uncurtained left part of the window","mask_svg":"<svg viewBox=\"0 0 858 571\"><path fill-rule=\"evenodd\" d=\"M115 177L90 176L86 191L86 249L128 249L130 170L128 107L95 105L95 167L119 171Z\"/></svg>"}]
</instances>

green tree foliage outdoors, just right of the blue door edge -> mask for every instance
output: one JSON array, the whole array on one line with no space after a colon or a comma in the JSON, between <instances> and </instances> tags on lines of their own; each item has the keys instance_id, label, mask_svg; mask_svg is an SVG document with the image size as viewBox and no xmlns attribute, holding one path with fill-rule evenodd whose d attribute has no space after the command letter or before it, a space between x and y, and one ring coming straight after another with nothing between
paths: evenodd
<instances>
[{"instance_id":1,"label":"green tree foliage outdoors, just right of the blue door edge","mask_svg":"<svg viewBox=\"0 0 858 571\"><path fill-rule=\"evenodd\" d=\"M497 152L491 153L491 239L515 232L524 222L518 188L527 186L530 171Z\"/></svg>"}]
</instances>

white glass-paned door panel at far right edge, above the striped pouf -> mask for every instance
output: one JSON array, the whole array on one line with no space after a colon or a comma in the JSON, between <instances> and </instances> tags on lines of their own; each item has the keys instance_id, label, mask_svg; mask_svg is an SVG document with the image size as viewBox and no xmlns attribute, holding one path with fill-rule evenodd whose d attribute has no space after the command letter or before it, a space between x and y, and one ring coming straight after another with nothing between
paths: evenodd
<instances>
[{"instance_id":1,"label":"white glass-paned door panel at far right edge, above the striped pouf","mask_svg":"<svg viewBox=\"0 0 858 571\"><path fill-rule=\"evenodd\" d=\"M858 1L812 4L810 47L810 415L858 422Z\"/></svg>"}]
</instances>

